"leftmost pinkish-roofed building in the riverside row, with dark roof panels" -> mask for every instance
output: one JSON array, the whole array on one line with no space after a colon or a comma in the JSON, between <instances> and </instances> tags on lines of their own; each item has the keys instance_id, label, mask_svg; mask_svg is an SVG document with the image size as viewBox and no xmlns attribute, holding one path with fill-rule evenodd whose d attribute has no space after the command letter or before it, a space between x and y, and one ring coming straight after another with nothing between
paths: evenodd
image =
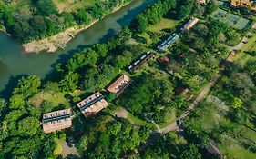
<instances>
[{"instance_id":1,"label":"leftmost pinkish-roofed building in the riverside row, with dark roof panels","mask_svg":"<svg viewBox=\"0 0 256 159\"><path fill-rule=\"evenodd\" d=\"M71 109L43 114L43 130L46 134L72 126Z\"/></svg>"}]
</instances>

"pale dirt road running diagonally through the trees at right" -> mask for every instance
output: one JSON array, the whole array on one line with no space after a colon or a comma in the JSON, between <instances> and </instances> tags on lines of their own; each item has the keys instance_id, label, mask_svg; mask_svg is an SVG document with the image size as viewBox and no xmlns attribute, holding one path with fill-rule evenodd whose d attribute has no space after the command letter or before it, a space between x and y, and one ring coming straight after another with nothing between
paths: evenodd
<instances>
[{"instance_id":1,"label":"pale dirt road running diagonally through the trees at right","mask_svg":"<svg viewBox=\"0 0 256 159\"><path fill-rule=\"evenodd\" d=\"M239 45L236 45L234 47L230 47L230 55L226 58L226 61L224 62L223 65L220 66L219 72L217 75L215 75L211 80L210 83L207 84L200 92L200 94L196 97L194 102L192 104L189 104L189 109L185 111L183 114L179 116L179 118L174 121L173 123L167 125L166 127L159 129L157 132L160 134L166 134L169 133L170 131L178 131L179 126L177 125L177 121L180 119L183 119L187 116L189 116L190 112L205 98L207 95L210 93L210 88L212 88L220 79L223 70L226 69L226 67L229 65L229 63L233 62L235 59L235 52L237 50L240 50L242 45L248 41L247 37L243 37L241 40L241 43Z\"/></svg>"}]
</instances>

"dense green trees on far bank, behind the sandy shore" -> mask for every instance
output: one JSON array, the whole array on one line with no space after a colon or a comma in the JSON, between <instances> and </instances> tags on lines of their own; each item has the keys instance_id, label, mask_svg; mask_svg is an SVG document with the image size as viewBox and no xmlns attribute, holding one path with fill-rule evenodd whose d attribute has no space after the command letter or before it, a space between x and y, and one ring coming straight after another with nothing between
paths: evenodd
<instances>
[{"instance_id":1,"label":"dense green trees on far bank, behind the sandy shore","mask_svg":"<svg viewBox=\"0 0 256 159\"><path fill-rule=\"evenodd\" d=\"M0 1L0 25L22 42L56 35L74 25L89 25L131 0L92 1L92 5L59 11L54 0ZM77 2L77 5L80 5ZM68 4L66 4L68 5ZM83 4L81 4L83 6ZM0 27L1 28L1 27Z\"/></svg>"}]
</instances>

